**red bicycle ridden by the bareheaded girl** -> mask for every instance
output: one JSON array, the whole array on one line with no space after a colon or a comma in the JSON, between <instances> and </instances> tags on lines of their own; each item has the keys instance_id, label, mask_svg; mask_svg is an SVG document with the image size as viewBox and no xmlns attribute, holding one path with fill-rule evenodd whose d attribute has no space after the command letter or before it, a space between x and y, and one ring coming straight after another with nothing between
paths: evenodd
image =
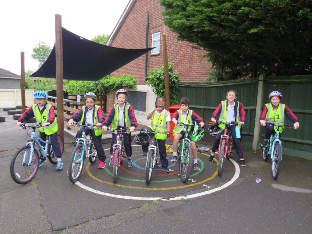
<instances>
[{"instance_id":1,"label":"red bicycle ridden by the bareheaded girl","mask_svg":"<svg viewBox=\"0 0 312 234\"><path fill-rule=\"evenodd\" d=\"M225 129L224 133L221 135L220 143L219 143L219 160L218 160L218 175L222 174L222 165L223 165L223 159L227 158L230 159L230 154L232 154L233 149L233 137L231 132L231 126L236 126L238 123L236 121L232 122L222 122L218 120L216 124L224 124Z\"/></svg>"}]
</instances>

